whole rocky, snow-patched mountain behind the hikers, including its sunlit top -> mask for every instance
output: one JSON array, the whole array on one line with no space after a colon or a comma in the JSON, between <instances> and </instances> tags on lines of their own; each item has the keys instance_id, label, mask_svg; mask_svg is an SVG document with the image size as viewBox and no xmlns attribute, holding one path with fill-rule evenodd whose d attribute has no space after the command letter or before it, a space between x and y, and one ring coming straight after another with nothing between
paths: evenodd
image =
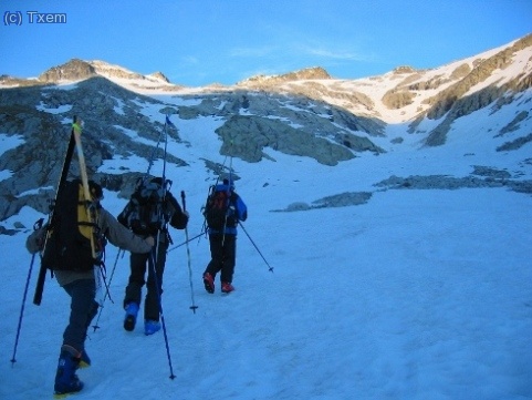
<instances>
[{"instance_id":1,"label":"whole rocky, snow-patched mountain behind the hikers, including its sunlit top","mask_svg":"<svg viewBox=\"0 0 532 400\"><path fill-rule=\"evenodd\" d=\"M531 85L532 34L440 68L399 66L358 80L310 68L231 86L185 88L163 73L142 75L76 59L38 79L2 75L0 220L24 205L46 212L42 191L53 193L73 115L85 121L91 175L126 196L148 162L163 156L157 146L163 132L176 148L167 162L179 168L190 167L184 154L198 144L182 136L191 134L201 145L217 146L221 156L247 163L274 160L273 151L334 167L367 153L446 146L450 136L467 143L457 150L460 156L474 148L521 152L532 142ZM165 115L177 130L164 125ZM222 172L212 153L194 150L206 176ZM136 170L119 165L134 157L142 161ZM531 160L523 156L523 168ZM115 171L103 167L109 163ZM413 184L427 182L390 177L384 183ZM529 182L514 186L532 192Z\"/></svg>"}]
</instances>

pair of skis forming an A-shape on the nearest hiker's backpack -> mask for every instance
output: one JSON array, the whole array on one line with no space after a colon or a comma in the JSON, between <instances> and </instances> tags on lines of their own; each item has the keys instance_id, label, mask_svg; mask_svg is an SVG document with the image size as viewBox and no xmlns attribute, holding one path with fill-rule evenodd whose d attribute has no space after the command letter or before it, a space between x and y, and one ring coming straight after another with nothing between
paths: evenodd
<instances>
[{"instance_id":1,"label":"pair of skis forming an A-shape on the nearest hiker's backpack","mask_svg":"<svg viewBox=\"0 0 532 400\"><path fill-rule=\"evenodd\" d=\"M74 147L77 148L77 161L79 161L79 164L80 164L81 181L82 181L83 193L84 193L84 197L85 197L85 211L87 213L87 217L88 217L88 220L91 222L91 225L96 226L96 224L97 224L96 212L95 212L94 206L92 205L92 201L91 201L92 197L91 197L91 191L88 188L88 176L87 176L87 173L86 173L85 156L84 156L84 153L83 153L83 145L82 145L82 141L81 141L82 127L81 127L81 124L79 123L79 120L77 120L76 116L74 116L73 122L74 123L72 125L72 131L71 131L71 135L70 135L70 140L69 140L69 146L66 147L66 154L65 154L65 157L64 157L64 161L63 161L63 167L61 168L61 176L60 176L60 180L59 180L59 183L58 183L58 188L55 191L55 197L54 197L53 202L50 204L50 214L49 214L49 218L48 218L48 228L49 229L50 229L50 227L54 226L54 223L55 223L55 219L56 219L54 208L55 208L55 204L58 202L58 198L59 198L59 196L60 196L61 192L63 191L63 187L66 183L66 178L69 176L69 171L70 171L70 166L71 166L71 163L72 163L72 157L74 155ZM93 233L91 234L91 249L92 249L92 256L93 256L94 259L97 258L95 235L96 235L96 233L93 229ZM44 248L46 248L46 245L49 244L50 236L51 236L51 230L49 230L46 233L46 237L45 237L44 246L43 246L43 252L44 252ZM41 268L39 269L39 276L38 276L36 286L35 286L35 293L33 295L33 304L36 305L36 306L41 305L41 301L42 301L42 293L44 290L45 278L46 278L46 266L41 263ZM103 291L102 290L103 285L102 285L102 279L101 279L98 267L94 268L94 278L96 280L96 293L100 294L100 297L101 297L101 294Z\"/></svg>"}]
</instances>

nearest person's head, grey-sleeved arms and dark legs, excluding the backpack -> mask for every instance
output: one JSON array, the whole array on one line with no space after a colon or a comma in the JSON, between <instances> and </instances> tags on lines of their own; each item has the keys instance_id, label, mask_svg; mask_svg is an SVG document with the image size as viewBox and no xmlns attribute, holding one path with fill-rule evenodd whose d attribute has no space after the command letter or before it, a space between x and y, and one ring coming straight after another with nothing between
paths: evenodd
<instances>
[{"instance_id":1,"label":"nearest person's head, grey-sleeved arms and dark legs, excluding the backpack","mask_svg":"<svg viewBox=\"0 0 532 400\"><path fill-rule=\"evenodd\" d=\"M111 213L102 207L100 201L103 191L100 185L90 181L90 191L95 204L96 222L100 232L113 245L131 252L147 253L155 240L152 236L139 237L119 224ZM33 232L27 240L27 248L34 254L43 250L46 226ZM95 267L98 268L98 267ZM88 367L91 359L85 350L85 338L91 321L97 315L95 274L97 270L74 271L54 270L58 283L71 297L69 325L63 332L63 345L58 362L54 391L56 396L77 392L83 389L83 382L75 371L80 367Z\"/></svg>"}]
</instances>

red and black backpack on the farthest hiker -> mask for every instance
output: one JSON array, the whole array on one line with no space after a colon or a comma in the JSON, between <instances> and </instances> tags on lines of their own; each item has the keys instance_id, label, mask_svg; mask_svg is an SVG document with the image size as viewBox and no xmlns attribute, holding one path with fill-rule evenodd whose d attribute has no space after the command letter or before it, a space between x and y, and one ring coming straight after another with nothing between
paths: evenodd
<instances>
[{"instance_id":1,"label":"red and black backpack on the farthest hiker","mask_svg":"<svg viewBox=\"0 0 532 400\"><path fill-rule=\"evenodd\" d=\"M238 225L234 212L236 201L237 195L234 192L230 191L228 193L226 189L216 191L215 186L211 186L204 209L207 226L213 230L236 227Z\"/></svg>"}]
</instances>

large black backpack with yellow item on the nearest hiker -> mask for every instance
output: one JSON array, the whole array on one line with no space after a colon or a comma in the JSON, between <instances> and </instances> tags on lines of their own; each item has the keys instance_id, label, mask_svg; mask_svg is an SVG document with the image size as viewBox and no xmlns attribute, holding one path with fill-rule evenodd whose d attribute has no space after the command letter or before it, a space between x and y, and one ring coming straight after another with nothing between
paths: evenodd
<instances>
[{"instance_id":1,"label":"large black backpack with yellow item on the nearest hiker","mask_svg":"<svg viewBox=\"0 0 532 400\"><path fill-rule=\"evenodd\" d=\"M100 185L91 182L92 188L102 193ZM102 265L104 243L96 222L91 223L86 213L83 185L80 180L67 181L53 205L53 214L48 226L48 239L42 255L42 264L52 270L88 271ZM91 235L94 235L96 258L93 258Z\"/></svg>"}]
</instances>

